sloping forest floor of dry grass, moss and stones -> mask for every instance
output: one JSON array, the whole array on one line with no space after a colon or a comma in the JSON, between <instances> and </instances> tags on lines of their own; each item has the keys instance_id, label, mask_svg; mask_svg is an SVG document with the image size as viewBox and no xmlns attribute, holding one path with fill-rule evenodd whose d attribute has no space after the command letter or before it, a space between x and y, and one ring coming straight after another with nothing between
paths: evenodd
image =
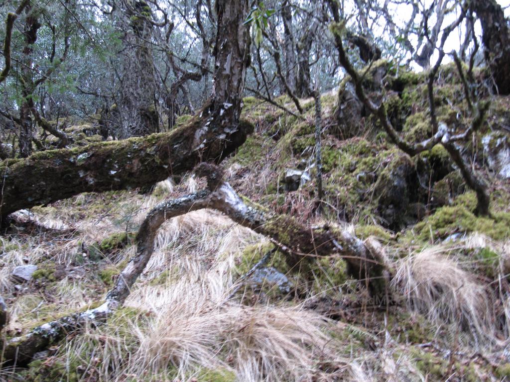
<instances>
[{"instance_id":1,"label":"sloping forest floor of dry grass, moss and stones","mask_svg":"<svg viewBox=\"0 0 510 382\"><path fill-rule=\"evenodd\" d=\"M302 100L300 120L247 98L244 117L257 129L222 165L253 201L378 243L393 269L384 298L349 278L338 257L317 258L303 275L276 252L244 278L271 242L218 212L195 211L163 225L149 264L106 324L70 333L28 367L4 369L0 380L510 380L508 181L477 168L490 182L492 215L475 216L474 194L440 148L411 159L377 130L345 137L335 130L336 100L322 97L321 213L312 99ZM505 103L494 102L489 121L504 117ZM418 134L417 126L403 131ZM291 190L287 170L312 179ZM5 335L103 302L135 253L147 212L203 186L188 175L145 194L87 193L18 215L0 242ZM13 271L26 265L37 270L21 282Z\"/></svg>"}]
</instances>

